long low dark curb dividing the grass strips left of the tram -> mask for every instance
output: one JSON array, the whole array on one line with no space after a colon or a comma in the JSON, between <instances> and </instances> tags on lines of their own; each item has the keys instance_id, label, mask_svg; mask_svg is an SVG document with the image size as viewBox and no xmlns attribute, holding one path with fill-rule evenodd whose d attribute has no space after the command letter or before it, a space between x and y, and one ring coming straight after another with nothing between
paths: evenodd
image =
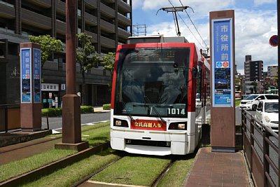
<instances>
[{"instance_id":1,"label":"long low dark curb dividing the grass strips left of the tram","mask_svg":"<svg viewBox=\"0 0 280 187\"><path fill-rule=\"evenodd\" d=\"M110 147L110 142L106 141L104 144L100 144L93 148L87 148L84 151L80 151L76 154L69 155L66 158L62 158L55 162L52 162L48 165L44 165L43 167L39 167L38 169L34 169L25 174L21 174L19 176L15 176L14 178L8 179L6 181L0 182L0 186L20 186L27 181L34 181L42 176L51 174L53 171L57 169L62 169L68 165L73 164L74 162L78 162L83 160L84 158L89 157L94 153L99 153Z\"/></svg>"}]
</instances>

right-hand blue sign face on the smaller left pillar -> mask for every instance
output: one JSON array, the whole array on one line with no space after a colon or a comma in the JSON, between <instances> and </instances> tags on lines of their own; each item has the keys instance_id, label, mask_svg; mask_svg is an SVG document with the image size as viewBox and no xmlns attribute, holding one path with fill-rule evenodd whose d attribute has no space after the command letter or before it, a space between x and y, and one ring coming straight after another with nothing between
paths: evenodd
<instances>
[{"instance_id":1,"label":"right-hand blue sign face on the smaller left pillar","mask_svg":"<svg viewBox=\"0 0 280 187\"><path fill-rule=\"evenodd\" d=\"M41 50L33 48L34 102L41 103Z\"/></svg>"}]
</instances>

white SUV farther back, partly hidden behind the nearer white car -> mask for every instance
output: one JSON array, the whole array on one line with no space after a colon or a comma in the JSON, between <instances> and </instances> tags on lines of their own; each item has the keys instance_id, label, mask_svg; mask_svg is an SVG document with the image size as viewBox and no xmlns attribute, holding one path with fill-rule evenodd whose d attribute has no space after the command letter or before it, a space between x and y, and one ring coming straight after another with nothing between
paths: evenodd
<instances>
[{"instance_id":1,"label":"white SUV farther back, partly hidden behind the nearer white car","mask_svg":"<svg viewBox=\"0 0 280 187\"><path fill-rule=\"evenodd\" d=\"M261 100L278 99L278 95L272 94L252 94L248 95L245 99L242 99L239 104L239 109L253 110L257 109L257 106Z\"/></svg>"}]
</instances>

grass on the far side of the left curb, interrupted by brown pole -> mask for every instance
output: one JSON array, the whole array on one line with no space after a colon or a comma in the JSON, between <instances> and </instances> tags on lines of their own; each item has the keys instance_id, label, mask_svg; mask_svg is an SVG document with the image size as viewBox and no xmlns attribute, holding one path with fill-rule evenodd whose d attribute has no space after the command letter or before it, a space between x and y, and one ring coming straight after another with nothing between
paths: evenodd
<instances>
[{"instance_id":1,"label":"grass on the far side of the left curb, interrupted by brown pole","mask_svg":"<svg viewBox=\"0 0 280 187\"><path fill-rule=\"evenodd\" d=\"M97 125L87 125L82 127L82 139L89 141L90 146L102 144L109 141L110 125L109 122L100 123ZM61 134L50 135L50 137L61 137ZM65 158L67 155L76 153L77 151L66 151L52 148L43 153L32 155L29 158L9 162L5 165L0 165L0 181L5 181L12 177L30 172L33 169L47 165L50 162Z\"/></svg>"}]
</instances>

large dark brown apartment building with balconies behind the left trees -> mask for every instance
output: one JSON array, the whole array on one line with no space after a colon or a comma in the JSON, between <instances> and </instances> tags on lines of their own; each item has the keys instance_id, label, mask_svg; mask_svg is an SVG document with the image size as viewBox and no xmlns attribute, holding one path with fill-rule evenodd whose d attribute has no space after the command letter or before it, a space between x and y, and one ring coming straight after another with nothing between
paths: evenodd
<instances>
[{"instance_id":1,"label":"large dark brown apartment building with balconies behind the left trees","mask_svg":"<svg viewBox=\"0 0 280 187\"><path fill-rule=\"evenodd\" d=\"M116 52L119 43L132 36L132 0L77 0L77 33L92 36L97 53ZM0 0L0 104L20 103L19 43L28 36L55 37L65 46L66 0ZM55 53L42 69L42 104L49 107L62 103L66 92L65 53ZM82 78L77 64L77 92ZM109 72L102 67L85 75L85 104L110 102Z\"/></svg>"}]
</instances>

